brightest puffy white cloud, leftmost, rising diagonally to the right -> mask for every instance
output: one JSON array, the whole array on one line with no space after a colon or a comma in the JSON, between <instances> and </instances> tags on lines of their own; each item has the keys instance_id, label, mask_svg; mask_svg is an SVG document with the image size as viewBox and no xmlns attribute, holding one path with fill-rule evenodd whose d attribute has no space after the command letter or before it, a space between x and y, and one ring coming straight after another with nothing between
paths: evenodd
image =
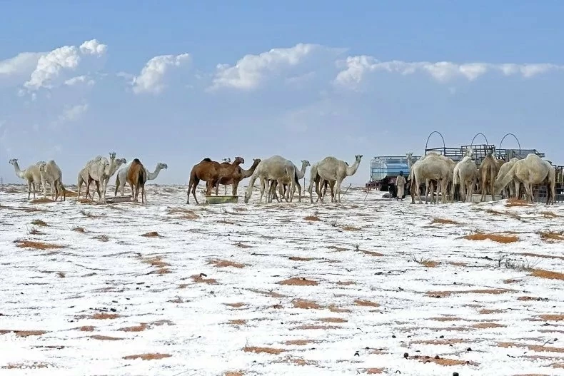
<instances>
[{"instance_id":1,"label":"brightest puffy white cloud, leftmost, rising diagonally to the right","mask_svg":"<svg viewBox=\"0 0 564 376\"><path fill-rule=\"evenodd\" d=\"M41 87L51 88L52 81L58 78L62 71L76 71L82 56L103 56L106 45L99 44L96 39L85 41L80 47L62 46L44 54L37 61L35 70L31 73L29 81L24 86L29 90L38 90Z\"/></svg>"}]
</instances>

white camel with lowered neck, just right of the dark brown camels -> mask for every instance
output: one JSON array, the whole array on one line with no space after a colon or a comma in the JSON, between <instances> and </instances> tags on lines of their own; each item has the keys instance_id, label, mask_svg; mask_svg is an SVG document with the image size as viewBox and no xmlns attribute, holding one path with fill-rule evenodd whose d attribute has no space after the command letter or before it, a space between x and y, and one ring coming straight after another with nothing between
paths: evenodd
<instances>
[{"instance_id":1,"label":"white camel with lowered neck, just right of the dark brown camels","mask_svg":"<svg viewBox=\"0 0 564 376\"><path fill-rule=\"evenodd\" d=\"M290 185L288 190L293 191L294 186L298 181L298 176L296 175L296 166L292 161L283 158L281 156L271 156L270 158L263 159L258 166L256 166L251 180L248 183L247 190L245 192L245 203L251 199L253 194L253 186L256 179L261 181L261 198L258 201L262 203L263 194L266 189L266 201L268 202L268 181L278 181L278 185L282 186L284 181L289 181ZM292 197L290 197L292 200Z\"/></svg>"}]
</instances>

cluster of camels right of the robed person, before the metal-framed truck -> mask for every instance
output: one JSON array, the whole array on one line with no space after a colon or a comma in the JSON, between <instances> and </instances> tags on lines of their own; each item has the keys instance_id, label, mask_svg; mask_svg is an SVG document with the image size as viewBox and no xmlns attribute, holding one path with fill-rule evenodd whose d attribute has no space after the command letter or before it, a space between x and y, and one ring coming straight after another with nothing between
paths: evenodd
<instances>
[{"instance_id":1,"label":"cluster of camels right of the robed person, before the metal-framed truck","mask_svg":"<svg viewBox=\"0 0 564 376\"><path fill-rule=\"evenodd\" d=\"M472 159L472 150L468 148L461 161L455 163L452 159L438 153L428 153L415 163L408 154L410 173L408 182L411 189L411 203L415 203L415 196L421 203L421 183L425 181L430 191L431 201L435 201L433 190L435 186L440 190L441 201L445 203L450 197L454 198L455 186L460 185L461 198L471 200L473 190L481 191L481 200L485 200L489 192L492 200L502 191L505 197L520 198L520 187L525 188L525 198L533 203L533 186L547 186L547 205L554 203L555 171L548 161L543 161L536 154L528 154L523 159L513 158L508 162L495 158L495 154L488 153L480 166L476 166ZM427 203L427 192L425 192Z\"/></svg>"}]
</instances>

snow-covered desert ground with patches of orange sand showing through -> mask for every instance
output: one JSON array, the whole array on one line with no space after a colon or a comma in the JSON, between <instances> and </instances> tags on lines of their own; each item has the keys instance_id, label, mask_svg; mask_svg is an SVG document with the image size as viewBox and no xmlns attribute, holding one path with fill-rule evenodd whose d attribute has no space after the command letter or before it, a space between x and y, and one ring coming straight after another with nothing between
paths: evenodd
<instances>
[{"instance_id":1,"label":"snow-covered desert ground with patches of orange sand showing through","mask_svg":"<svg viewBox=\"0 0 564 376\"><path fill-rule=\"evenodd\" d=\"M0 190L0 375L564 375L564 205L24 192Z\"/></svg>"}]
</instances>

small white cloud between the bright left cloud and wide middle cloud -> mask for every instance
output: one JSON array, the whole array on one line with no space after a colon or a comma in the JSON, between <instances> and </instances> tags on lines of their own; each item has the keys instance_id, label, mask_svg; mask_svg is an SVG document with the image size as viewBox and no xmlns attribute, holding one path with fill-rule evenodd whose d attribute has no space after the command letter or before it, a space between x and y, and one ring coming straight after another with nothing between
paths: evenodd
<instances>
[{"instance_id":1,"label":"small white cloud between the bright left cloud and wide middle cloud","mask_svg":"<svg viewBox=\"0 0 564 376\"><path fill-rule=\"evenodd\" d=\"M141 70L141 74L133 78L134 93L161 93L163 88L166 87L163 83L163 78L169 68L186 65L190 59L189 54L153 57L153 59L147 61Z\"/></svg>"}]
</instances>

